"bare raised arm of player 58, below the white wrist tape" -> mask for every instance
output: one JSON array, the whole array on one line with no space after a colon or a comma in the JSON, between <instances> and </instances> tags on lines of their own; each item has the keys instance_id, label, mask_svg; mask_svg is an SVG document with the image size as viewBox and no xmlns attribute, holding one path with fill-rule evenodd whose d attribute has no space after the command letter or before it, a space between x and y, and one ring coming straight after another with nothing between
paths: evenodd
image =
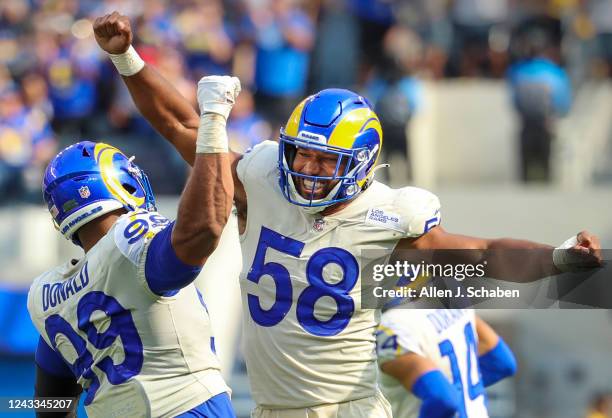
<instances>
[{"instance_id":1,"label":"bare raised arm of player 58, below the white wrist tape","mask_svg":"<svg viewBox=\"0 0 612 418\"><path fill-rule=\"evenodd\" d=\"M122 78L140 113L193 166L200 117L191 103L149 65Z\"/></svg>"}]
</instances>

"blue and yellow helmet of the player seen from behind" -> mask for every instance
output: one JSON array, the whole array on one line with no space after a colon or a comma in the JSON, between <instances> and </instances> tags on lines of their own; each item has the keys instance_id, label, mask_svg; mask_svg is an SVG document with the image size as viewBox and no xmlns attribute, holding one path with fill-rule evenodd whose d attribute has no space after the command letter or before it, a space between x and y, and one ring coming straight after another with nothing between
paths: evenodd
<instances>
[{"instance_id":1,"label":"blue and yellow helmet of the player seen from behind","mask_svg":"<svg viewBox=\"0 0 612 418\"><path fill-rule=\"evenodd\" d=\"M103 143L83 141L57 154L45 171L42 189L55 227L77 245L75 232L108 212L155 210L146 174Z\"/></svg>"}]
</instances>

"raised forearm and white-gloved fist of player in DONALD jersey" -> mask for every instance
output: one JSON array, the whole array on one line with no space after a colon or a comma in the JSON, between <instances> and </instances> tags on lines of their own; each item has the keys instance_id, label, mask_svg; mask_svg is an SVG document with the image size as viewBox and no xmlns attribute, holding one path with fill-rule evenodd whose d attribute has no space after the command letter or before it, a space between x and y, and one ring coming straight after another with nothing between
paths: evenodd
<instances>
[{"instance_id":1,"label":"raised forearm and white-gloved fist of player in DONALD jersey","mask_svg":"<svg viewBox=\"0 0 612 418\"><path fill-rule=\"evenodd\" d=\"M198 83L196 157L172 231L172 247L189 265L204 264L231 211L234 186L225 125L239 93L236 77L208 76Z\"/></svg>"}]
</instances>

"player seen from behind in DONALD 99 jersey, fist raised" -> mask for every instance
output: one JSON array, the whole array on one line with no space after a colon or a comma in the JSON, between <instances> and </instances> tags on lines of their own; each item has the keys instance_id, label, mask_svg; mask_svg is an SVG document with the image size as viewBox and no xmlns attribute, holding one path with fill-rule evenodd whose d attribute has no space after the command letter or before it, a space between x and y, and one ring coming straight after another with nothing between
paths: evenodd
<instances>
[{"instance_id":1,"label":"player seen from behind in DONALD 99 jersey, fist raised","mask_svg":"<svg viewBox=\"0 0 612 418\"><path fill-rule=\"evenodd\" d=\"M235 77L205 77L193 171L175 222L117 148L79 142L47 167L43 194L80 260L34 280L37 397L80 396L90 417L234 417L208 311L192 283L232 206L225 122ZM65 414L74 416L74 408ZM45 416L45 413L41 413Z\"/></svg>"}]
</instances>

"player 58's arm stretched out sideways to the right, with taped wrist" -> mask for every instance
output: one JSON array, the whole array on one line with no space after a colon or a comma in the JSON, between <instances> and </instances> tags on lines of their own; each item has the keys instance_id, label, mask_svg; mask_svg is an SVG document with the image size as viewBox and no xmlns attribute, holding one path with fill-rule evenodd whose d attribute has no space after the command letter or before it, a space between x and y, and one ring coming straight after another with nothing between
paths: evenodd
<instances>
[{"instance_id":1,"label":"player 58's arm stretched out sideways to the right, with taped wrist","mask_svg":"<svg viewBox=\"0 0 612 418\"><path fill-rule=\"evenodd\" d=\"M599 239L587 231L554 248L512 238L484 239L452 234L436 226L417 239L402 240L398 249L472 250L456 253L461 260L455 262L478 264L486 261L488 277L515 282L533 281L575 267L596 268L602 264Z\"/></svg>"}]
</instances>

